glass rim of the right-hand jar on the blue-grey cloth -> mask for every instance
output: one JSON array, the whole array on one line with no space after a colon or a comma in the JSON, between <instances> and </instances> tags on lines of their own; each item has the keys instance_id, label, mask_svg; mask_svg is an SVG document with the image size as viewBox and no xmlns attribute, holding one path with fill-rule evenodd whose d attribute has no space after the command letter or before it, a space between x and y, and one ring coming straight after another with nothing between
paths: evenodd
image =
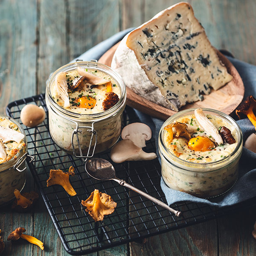
<instances>
[{"instance_id":1,"label":"glass rim of the right-hand jar on the blue-grey cloth","mask_svg":"<svg viewBox=\"0 0 256 256\"><path fill-rule=\"evenodd\" d=\"M179 157L175 156L174 154L172 154L168 148L166 147L164 141L163 141L163 132L164 132L164 127L168 124L170 124L172 121L174 121L176 118L183 116L184 114L189 114L189 113L193 113L195 111L195 109L197 108L189 108L183 111L179 111L177 113L175 113L174 115L170 116L162 125L162 127L160 128L160 132L159 132L159 140L158 140L158 144L159 144L159 151L160 153L166 158L166 160L168 160L170 163L171 160L175 161L175 164L179 163L180 165L183 166L187 166L189 165L189 169L197 169L197 170L188 170L186 169L186 171L192 171L192 172L204 172L205 171L198 171L198 168L203 169L203 168L214 168L217 165L222 165L222 164L227 164L230 160L233 159L233 156L235 154L237 154L237 152L239 153L239 148L242 148L242 143L243 143L243 135L241 132L241 129L239 127L239 125L236 123L236 121L231 117L228 116L227 114L218 111L218 110L214 110L211 108L202 108L203 111L208 111L208 113L212 113L212 114L217 114L218 116L221 116L221 118L224 118L225 120L227 120L228 122L230 122L232 125L234 125L236 127L236 131L238 134L238 143L236 145L236 148L224 159L220 159L214 162L209 162L209 163L194 163L194 162L189 162L183 159L180 159ZM170 160L171 159L171 160ZM211 172L211 171L209 171Z\"/></svg>"}]
</instances>

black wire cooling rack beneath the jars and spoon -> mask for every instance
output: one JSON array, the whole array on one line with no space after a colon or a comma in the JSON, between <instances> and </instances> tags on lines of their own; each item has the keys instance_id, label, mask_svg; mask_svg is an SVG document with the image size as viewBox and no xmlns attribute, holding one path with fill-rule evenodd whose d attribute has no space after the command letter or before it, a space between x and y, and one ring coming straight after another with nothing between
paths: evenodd
<instances>
[{"instance_id":1,"label":"black wire cooling rack beneath the jars and spoon","mask_svg":"<svg viewBox=\"0 0 256 256\"><path fill-rule=\"evenodd\" d=\"M6 108L6 114L20 122L20 110L27 103L41 105L47 112L45 95L40 94L10 103ZM140 120L134 110L126 107L123 125L138 121ZM119 186L114 181L102 182L89 177L80 159L65 153L53 142L49 134L48 115L36 128L27 128L24 125L23 128L28 140L29 154L35 157L32 163L28 163L29 168L62 244L72 255L92 253L131 241L140 241L148 236L207 221L256 204L255 200L250 200L219 209L206 204L182 202L171 205L172 208L183 212L182 217L176 217L168 210ZM145 151L155 151L153 139L147 143ZM110 160L109 152L96 154L95 157ZM166 202L160 188L161 169L157 159L113 165L117 177ZM69 196L58 185L47 188L46 180L50 169L67 171L70 166L76 169L76 175L70 177L70 181L77 195ZM111 215L106 215L103 221L94 222L81 205L81 200L87 199L94 189L111 195L117 203L115 211Z\"/></svg>"}]
</instances>

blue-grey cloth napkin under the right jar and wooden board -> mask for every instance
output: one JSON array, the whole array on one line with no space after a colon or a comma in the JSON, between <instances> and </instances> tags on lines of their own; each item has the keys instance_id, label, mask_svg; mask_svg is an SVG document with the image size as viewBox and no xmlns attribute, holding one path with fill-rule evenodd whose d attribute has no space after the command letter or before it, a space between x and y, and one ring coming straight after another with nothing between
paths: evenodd
<instances>
[{"instance_id":1,"label":"blue-grey cloth napkin under the right jar and wooden board","mask_svg":"<svg viewBox=\"0 0 256 256\"><path fill-rule=\"evenodd\" d=\"M96 45L95 47L84 52L82 55L76 59L81 59L83 61L90 61L92 59L99 59L109 48L120 41L128 32L133 28L126 29L122 32L113 35L111 38L103 41L102 43ZM233 65L238 70L245 87L244 97L249 95L256 96L256 66L250 65L243 61L239 61L235 58L227 57ZM73 61L76 61L74 59ZM163 121L157 118L148 116L140 111L135 110L139 116L141 122L148 124L153 131L153 135L156 138L156 149L158 154L158 135ZM240 126L244 141L247 137L255 132L254 126L248 119L238 120L238 125ZM160 160L159 154L158 159ZM161 178L161 188L166 196L168 204L173 204L180 201L192 201L197 203L205 203L212 206L224 207L237 204L239 202L245 201L247 199L256 197L256 154L247 148L243 148L243 153L239 163L239 178L236 184L224 195L214 198L212 200L197 198L195 196L180 192L174 189L170 189L166 186L163 178Z\"/></svg>"}]
</instances>

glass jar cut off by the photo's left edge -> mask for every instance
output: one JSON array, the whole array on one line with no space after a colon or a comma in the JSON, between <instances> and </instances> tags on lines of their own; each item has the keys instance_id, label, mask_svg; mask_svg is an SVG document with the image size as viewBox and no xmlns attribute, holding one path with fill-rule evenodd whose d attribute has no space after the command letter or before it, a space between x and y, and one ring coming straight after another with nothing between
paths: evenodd
<instances>
[{"instance_id":1,"label":"glass jar cut off by the photo's left edge","mask_svg":"<svg viewBox=\"0 0 256 256\"><path fill-rule=\"evenodd\" d=\"M25 131L18 122L14 119L0 115L1 118L9 119L15 123L20 129L20 132L25 135ZM26 183L26 166L25 160L27 154L27 141L26 135L24 137L25 146L12 157L12 159L0 164L0 205L6 204L15 198L14 190L21 191ZM30 157L30 156L29 156Z\"/></svg>"}]
</instances>

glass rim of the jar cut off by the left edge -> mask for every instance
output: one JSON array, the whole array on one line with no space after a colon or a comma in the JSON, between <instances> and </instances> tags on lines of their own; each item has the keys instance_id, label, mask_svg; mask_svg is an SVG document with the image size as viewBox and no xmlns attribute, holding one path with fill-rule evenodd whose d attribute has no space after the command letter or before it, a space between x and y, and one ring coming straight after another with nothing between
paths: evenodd
<instances>
[{"instance_id":1,"label":"glass rim of the jar cut off by the left edge","mask_svg":"<svg viewBox=\"0 0 256 256\"><path fill-rule=\"evenodd\" d=\"M5 116L5 115L0 114L0 117L9 119L11 122L15 123L15 125L18 126L18 128L20 129L20 132L24 135L24 139L23 140L24 140L24 143L25 143L25 147L20 148L20 151L17 154L15 154L10 160L0 164L0 173L2 173L2 172L7 171L9 168L11 168L14 165L14 163L16 163L17 160L19 160L20 157L22 157L23 154L26 153L28 144L27 144L27 140L26 140L25 131L24 131L23 127L20 125L19 122L17 122L15 119L13 119L10 116ZM6 166L8 166L8 167L6 167ZM1 170L1 169L3 169L3 170Z\"/></svg>"}]
</instances>

